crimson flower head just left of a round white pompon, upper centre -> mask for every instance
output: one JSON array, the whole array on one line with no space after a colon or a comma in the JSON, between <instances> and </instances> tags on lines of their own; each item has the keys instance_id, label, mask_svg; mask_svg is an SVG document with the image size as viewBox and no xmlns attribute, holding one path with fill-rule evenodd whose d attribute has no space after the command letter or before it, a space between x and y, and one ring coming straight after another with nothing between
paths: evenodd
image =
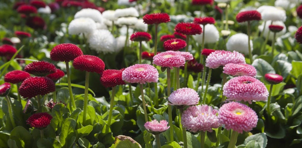
<instances>
[{"instance_id":1,"label":"crimson flower head just left of a round white pompon, upper centre","mask_svg":"<svg viewBox=\"0 0 302 148\"><path fill-rule=\"evenodd\" d=\"M183 23L183 22L178 23L175 26L174 31L185 34L185 35L196 35L196 34L202 33L202 29L199 24Z\"/></svg>"}]
</instances>

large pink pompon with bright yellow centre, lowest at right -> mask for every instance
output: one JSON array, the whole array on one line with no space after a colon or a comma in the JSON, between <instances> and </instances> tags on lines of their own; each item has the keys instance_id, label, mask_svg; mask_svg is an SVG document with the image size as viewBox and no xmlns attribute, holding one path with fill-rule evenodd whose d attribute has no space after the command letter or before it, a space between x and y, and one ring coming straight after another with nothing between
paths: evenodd
<instances>
[{"instance_id":1,"label":"large pink pompon with bright yellow centre, lowest at right","mask_svg":"<svg viewBox=\"0 0 302 148\"><path fill-rule=\"evenodd\" d=\"M241 134L243 131L251 131L258 122L256 112L238 102L223 104L218 111L218 119L227 130L233 129Z\"/></svg>"}]
</instances>

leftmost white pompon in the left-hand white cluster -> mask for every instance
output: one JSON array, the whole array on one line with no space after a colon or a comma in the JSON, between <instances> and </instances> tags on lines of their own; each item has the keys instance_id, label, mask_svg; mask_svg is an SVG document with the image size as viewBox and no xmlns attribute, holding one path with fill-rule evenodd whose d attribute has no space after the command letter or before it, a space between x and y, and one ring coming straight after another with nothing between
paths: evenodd
<instances>
[{"instance_id":1,"label":"leftmost white pompon in the left-hand white cluster","mask_svg":"<svg viewBox=\"0 0 302 148\"><path fill-rule=\"evenodd\" d=\"M88 17L80 17L72 20L68 25L68 33L77 35L80 33L90 33L96 29L95 21Z\"/></svg>"}]
</instances>

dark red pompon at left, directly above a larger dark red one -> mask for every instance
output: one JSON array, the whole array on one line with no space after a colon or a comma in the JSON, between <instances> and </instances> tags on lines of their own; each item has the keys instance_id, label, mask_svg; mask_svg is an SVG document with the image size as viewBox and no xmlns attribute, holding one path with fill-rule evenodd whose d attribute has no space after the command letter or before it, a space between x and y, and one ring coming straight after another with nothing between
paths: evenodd
<instances>
[{"instance_id":1,"label":"dark red pompon at left, directly above a larger dark red one","mask_svg":"<svg viewBox=\"0 0 302 148\"><path fill-rule=\"evenodd\" d=\"M35 76L46 76L56 72L56 66L46 61L38 61L26 65L24 71Z\"/></svg>"}]
</instances>

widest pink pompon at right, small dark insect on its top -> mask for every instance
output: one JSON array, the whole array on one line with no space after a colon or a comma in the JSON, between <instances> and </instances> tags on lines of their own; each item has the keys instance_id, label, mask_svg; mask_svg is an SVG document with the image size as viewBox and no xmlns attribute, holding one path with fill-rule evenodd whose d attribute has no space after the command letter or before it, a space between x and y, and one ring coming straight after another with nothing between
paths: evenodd
<instances>
[{"instance_id":1,"label":"widest pink pompon at right, small dark insect on its top","mask_svg":"<svg viewBox=\"0 0 302 148\"><path fill-rule=\"evenodd\" d=\"M239 76L230 79L223 85L223 95L228 98L226 100L243 100L251 104L252 100L267 100L268 90L261 81L254 77Z\"/></svg>"}]
</instances>

